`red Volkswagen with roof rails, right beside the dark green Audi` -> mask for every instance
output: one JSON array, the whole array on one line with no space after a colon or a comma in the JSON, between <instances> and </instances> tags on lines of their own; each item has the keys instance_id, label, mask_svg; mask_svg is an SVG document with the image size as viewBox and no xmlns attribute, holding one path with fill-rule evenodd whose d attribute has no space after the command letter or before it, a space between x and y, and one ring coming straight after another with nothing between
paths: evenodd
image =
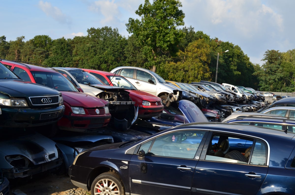
<instances>
[{"instance_id":1,"label":"red Volkswagen with roof rails, right beside the dark green Audi","mask_svg":"<svg viewBox=\"0 0 295 195\"><path fill-rule=\"evenodd\" d=\"M71 81L61 73L45 67L2 60L10 70L21 79L45 85L60 91L63 95L65 113L57 122L61 130L84 132L108 125L111 114L108 102L95 96L80 92ZM32 89L33 90L33 89ZM51 127L53 136L56 127Z\"/></svg>"}]
</instances>

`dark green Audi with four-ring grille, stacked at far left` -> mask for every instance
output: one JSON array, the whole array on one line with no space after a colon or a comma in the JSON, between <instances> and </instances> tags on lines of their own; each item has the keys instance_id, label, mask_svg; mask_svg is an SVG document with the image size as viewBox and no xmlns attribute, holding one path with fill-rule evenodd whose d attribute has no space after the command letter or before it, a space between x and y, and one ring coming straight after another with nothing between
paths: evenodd
<instances>
[{"instance_id":1,"label":"dark green Audi with four-ring grille, stacked at far left","mask_svg":"<svg viewBox=\"0 0 295 195\"><path fill-rule=\"evenodd\" d=\"M58 121L65 111L57 90L19 79L0 63L0 127L33 127Z\"/></svg>"}]
</instances>

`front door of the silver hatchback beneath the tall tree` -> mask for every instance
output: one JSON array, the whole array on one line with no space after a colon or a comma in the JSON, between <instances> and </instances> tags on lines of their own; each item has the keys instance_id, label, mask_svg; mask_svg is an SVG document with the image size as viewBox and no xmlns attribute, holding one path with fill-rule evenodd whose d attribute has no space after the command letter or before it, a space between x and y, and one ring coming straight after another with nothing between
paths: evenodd
<instances>
[{"instance_id":1,"label":"front door of the silver hatchback beneath the tall tree","mask_svg":"<svg viewBox=\"0 0 295 195\"><path fill-rule=\"evenodd\" d=\"M149 80L151 80L153 83L149 82ZM157 81L153 75L151 75L150 73L148 73L144 70L136 70L133 85L138 90L145 91L147 93L156 95Z\"/></svg>"}]
</instances>

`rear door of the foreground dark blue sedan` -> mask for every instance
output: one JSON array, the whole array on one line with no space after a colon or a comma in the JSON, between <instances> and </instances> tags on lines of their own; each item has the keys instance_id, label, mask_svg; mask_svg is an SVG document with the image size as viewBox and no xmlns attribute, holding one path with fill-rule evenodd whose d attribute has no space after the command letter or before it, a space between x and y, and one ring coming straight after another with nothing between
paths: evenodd
<instances>
[{"instance_id":1,"label":"rear door of the foreground dark blue sedan","mask_svg":"<svg viewBox=\"0 0 295 195\"><path fill-rule=\"evenodd\" d=\"M244 153L229 148L224 156L216 155L216 151L209 153L210 150L204 147L195 168L192 194L256 194L268 171L268 144L240 135L220 134L220 137L240 138L252 141L253 145L249 147L250 152L245 150Z\"/></svg>"}]
</instances>

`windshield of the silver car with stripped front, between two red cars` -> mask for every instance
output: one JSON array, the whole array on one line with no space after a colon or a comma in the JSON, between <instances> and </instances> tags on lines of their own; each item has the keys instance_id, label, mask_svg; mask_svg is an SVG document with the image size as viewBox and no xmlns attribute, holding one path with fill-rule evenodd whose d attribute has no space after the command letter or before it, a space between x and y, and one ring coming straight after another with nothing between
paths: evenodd
<instances>
[{"instance_id":1,"label":"windshield of the silver car with stripped front, between two red cars","mask_svg":"<svg viewBox=\"0 0 295 195\"><path fill-rule=\"evenodd\" d=\"M81 69L69 70L68 72L70 72L71 75L75 77L78 83L81 83L83 85L105 85L97 77Z\"/></svg>"}]
</instances>

